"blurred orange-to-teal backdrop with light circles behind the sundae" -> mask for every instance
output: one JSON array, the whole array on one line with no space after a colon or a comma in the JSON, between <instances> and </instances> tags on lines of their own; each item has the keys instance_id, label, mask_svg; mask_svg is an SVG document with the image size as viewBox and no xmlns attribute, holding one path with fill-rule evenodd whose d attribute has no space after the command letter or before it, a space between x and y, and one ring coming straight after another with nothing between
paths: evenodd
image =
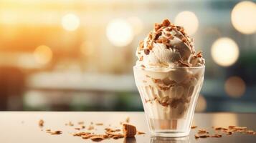
<instances>
[{"instance_id":1,"label":"blurred orange-to-teal backdrop with light circles behind the sundae","mask_svg":"<svg viewBox=\"0 0 256 143\"><path fill-rule=\"evenodd\" d=\"M256 112L256 1L1 0L0 110L143 111L135 50L169 18L204 51L196 112Z\"/></svg>"}]
</instances>

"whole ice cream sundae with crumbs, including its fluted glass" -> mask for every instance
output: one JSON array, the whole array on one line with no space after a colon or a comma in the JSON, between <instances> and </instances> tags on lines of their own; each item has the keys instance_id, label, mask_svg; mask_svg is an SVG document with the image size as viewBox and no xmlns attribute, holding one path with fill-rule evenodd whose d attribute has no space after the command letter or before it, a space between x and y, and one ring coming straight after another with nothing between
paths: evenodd
<instances>
[{"instance_id":1,"label":"whole ice cream sundae with crumbs, including its fluted glass","mask_svg":"<svg viewBox=\"0 0 256 143\"><path fill-rule=\"evenodd\" d=\"M164 19L155 24L136 51L133 67L151 135L189 135L204 81L202 51L181 26Z\"/></svg>"}]
</instances>

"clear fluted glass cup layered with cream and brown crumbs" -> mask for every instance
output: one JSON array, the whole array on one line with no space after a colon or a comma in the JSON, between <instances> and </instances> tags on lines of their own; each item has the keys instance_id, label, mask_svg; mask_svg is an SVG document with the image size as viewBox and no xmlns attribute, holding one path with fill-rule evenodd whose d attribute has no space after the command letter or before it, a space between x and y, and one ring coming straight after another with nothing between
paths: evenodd
<instances>
[{"instance_id":1,"label":"clear fluted glass cup layered with cream and brown crumbs","mask_svg":"<svg viewBox=\"0 0 256 143\"><path fill-rule=\"evenodd\" d=\"M169 69L133 67L151 135L189 135L204 82L204 66Z\"/></svg>"}]
</instances>

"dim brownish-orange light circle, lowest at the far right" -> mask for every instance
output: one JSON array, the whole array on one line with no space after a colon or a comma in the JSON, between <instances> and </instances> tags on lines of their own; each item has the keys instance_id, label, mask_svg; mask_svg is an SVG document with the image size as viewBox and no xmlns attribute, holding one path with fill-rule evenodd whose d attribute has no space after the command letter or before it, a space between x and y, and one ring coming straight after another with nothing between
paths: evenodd
<instances>
[{"instance_id":1,"label":"dim brownish-orange light circle, lowest at the far right","mask_svg":"<svg viewBox=\"0 0 256 143\"><path fill-rule=\"evenodd\" d=\"M241 97L245 94L246 85L240 77L229 77L224 84L225 92L230 97Z\"/></svg>"}]
</instances>

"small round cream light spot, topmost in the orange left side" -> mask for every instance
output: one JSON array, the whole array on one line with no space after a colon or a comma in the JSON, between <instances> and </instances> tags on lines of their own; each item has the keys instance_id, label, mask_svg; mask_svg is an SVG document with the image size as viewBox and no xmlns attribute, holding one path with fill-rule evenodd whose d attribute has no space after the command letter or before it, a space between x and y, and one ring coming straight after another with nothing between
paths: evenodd
<instances>
[{"instance_id":1,"label":"small round cream light spot, topmost in the orange left side","mask_svg":"<svg viewBox=\"0 0 256 143\"><path fill-rule=\"evenodd\" d=\"M80 25L80 19L75 14L66 14L62 17L62 27L67 31L75 31Z\"/></svg>"}]
</instances>

